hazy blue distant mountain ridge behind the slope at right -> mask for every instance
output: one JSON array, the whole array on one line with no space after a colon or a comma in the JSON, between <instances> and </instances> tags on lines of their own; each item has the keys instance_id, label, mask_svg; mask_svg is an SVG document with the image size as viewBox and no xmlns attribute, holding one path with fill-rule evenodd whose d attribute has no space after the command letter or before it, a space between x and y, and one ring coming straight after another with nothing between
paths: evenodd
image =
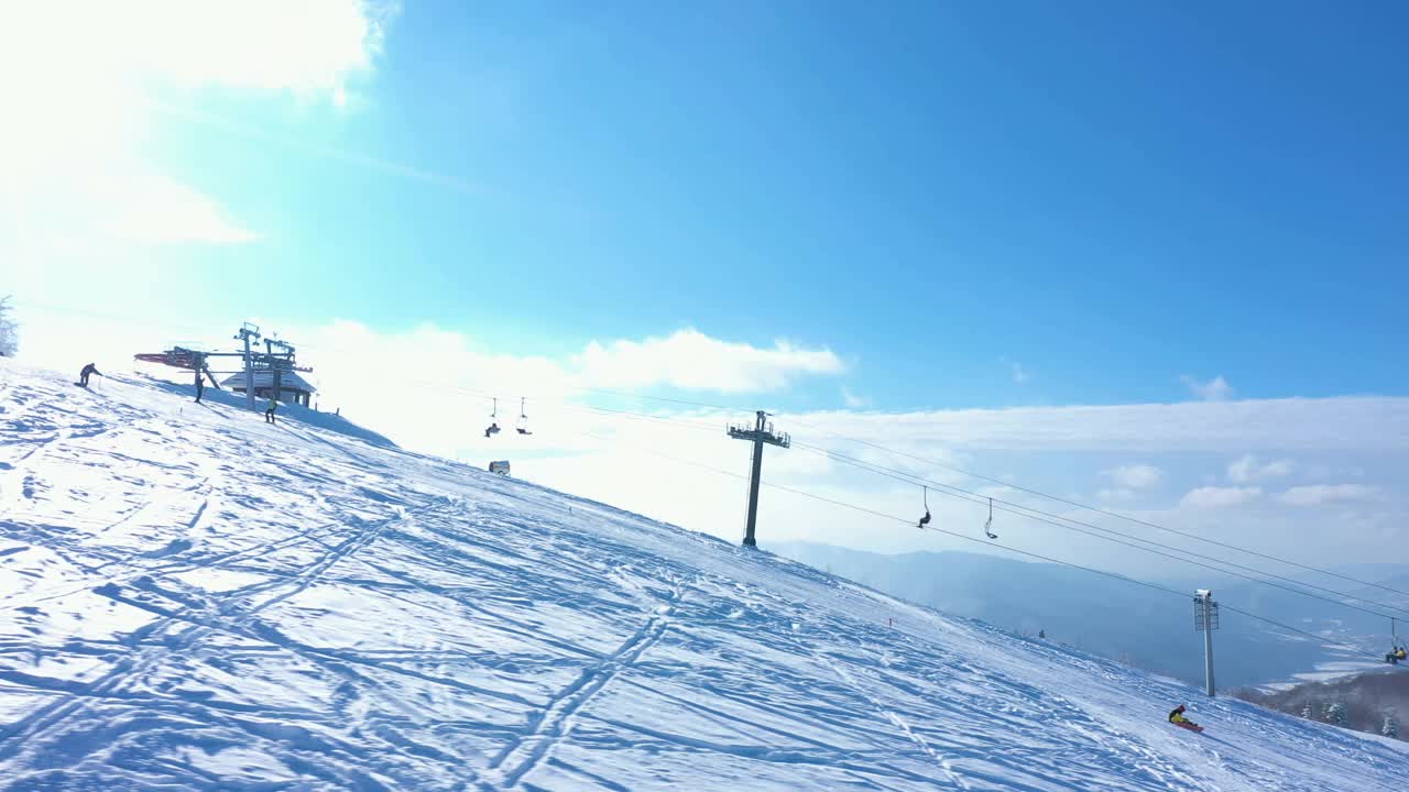
<instances>
[{"instance_id":1,"label":"hazy blue distant mountain ridge behind the slope at right","mask_svg":"<svg viewBox=\"0 0 1409 792\"><path fill-rule=\"evenodd\" d=\"M1189 682L1203 679L1203 644L1193 631L1192 585L1188 586L1191 603L1181 606L1167 593L1057 564L961 551L885 555L814 543L776 543L769 550L919 605L1029 636L1045 631L1048 640ZM1398 565L1361 567L1364 569L1357 569L1361 574L1406 572ZM1344 581L1337 586L1324 576L1306 575L1305 579L1399 605L1394 599L1396 595L1379 589L1367 590ZM1358 657L1348 655L1224 612L1215 640L1216 675L1222 686L1285 682L1329 664L1371 667L1374 655L1382 651L1377 647L1388 648L1388 620L1250 581L1226 581L1217 585L1216 598L1230 606L1308 631L1330 630L1336 640L1365 650ZM1409 585L1399 581L1401 576L1392 576L1386 585L1409 590ZM1177 588L1179 583L1161 585Z\"/></svg>"}]
</instances>

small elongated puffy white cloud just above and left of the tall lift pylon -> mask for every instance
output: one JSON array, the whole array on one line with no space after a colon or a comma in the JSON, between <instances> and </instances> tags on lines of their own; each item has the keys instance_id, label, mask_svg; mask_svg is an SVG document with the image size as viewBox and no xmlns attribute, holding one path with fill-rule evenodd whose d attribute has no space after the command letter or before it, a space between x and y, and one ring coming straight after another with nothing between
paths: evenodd
<instances>
[{"instance_id":1,"label":"small elongated puffy white cloud just above and left of the tall lift pylon","mask_svg":"<svg viewBox=\"0 0 1409 792\"><path fill-rule=\"evenodd\" d=\"M786 341L762 349L679 330L666 338L588 344L573 358L586 383L603 388L669 385L690 390L758 393L778 390L803 375L837 375L845 365L830 349Z\"/></svg>"}]
</instances>

